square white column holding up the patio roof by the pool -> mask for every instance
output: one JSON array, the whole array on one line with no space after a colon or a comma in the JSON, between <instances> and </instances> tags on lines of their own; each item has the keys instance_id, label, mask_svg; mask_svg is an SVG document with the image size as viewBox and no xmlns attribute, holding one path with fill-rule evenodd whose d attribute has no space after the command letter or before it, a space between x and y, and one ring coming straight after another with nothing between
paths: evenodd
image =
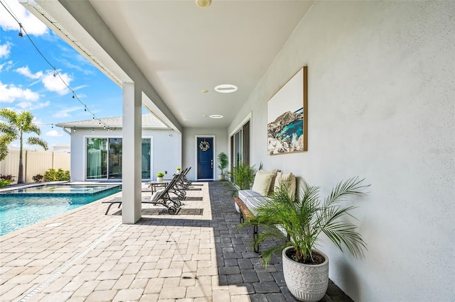
<instances>
[{"instance_id":1,"label":"square white column holding up the patio roof by the pool","mask_svg":"<svg viewBox=\"0 0 455 302\"><path fill-rule=\"evenodd\" d=\"M123 84L122 222L141 218L141 91Z\"/></svg>"}]
</instances>

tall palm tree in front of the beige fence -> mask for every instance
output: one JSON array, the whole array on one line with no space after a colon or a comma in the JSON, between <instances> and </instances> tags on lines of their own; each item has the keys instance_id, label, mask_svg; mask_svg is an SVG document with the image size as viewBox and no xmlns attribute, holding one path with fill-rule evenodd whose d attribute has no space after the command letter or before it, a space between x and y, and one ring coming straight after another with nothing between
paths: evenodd
<instances>
[{"instance_id":1,"label":"tall palm tree in front of the beige fence","mask_svg":"<svg viewBox=\"0 0 455 302\"><path fill-rule=\"evenodd\" d=\"M2 108L0 109L0 118L6 121L6 123L0 121L0 133L2 133L0 137L0 160L4 160L6 155L8 155L8 145L14 140L19 140L19 173L17 183L23 184L23 133L41 135L41 130L37 125L33 124L33 114L30 111L23 111L18 114L11 109ZM48 150L48 143L38 137L28 138L26 143L28 145L40 145L44 150Z\"/></svg>"}]
</instances>

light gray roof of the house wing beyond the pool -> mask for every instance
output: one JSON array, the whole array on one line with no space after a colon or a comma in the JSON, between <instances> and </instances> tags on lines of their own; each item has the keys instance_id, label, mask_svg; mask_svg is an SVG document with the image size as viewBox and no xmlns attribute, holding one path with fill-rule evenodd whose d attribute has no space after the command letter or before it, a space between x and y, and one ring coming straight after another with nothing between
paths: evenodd
<instances>
[{"instance_id":1,"label":"light gray roof of the house wing beyond the pool","mask_svg":"<svg viewBox=\"0 0 455 302\"><path fill-rule=\"evenodd\" d=\"M76 128L122 128L122 116L112 118L97 118L85 121L74 121L55 124L57 127ZM165 123L152 113L142 114L142 128L144 129L170 129Z\"/></svg>"}]
</instances>

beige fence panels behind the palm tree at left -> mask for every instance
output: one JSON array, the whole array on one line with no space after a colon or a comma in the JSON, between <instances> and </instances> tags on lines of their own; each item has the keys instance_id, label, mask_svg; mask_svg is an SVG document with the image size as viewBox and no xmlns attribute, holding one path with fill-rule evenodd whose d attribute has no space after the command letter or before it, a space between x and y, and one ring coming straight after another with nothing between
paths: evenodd
<instances>
[{"instance_id":1,"label":"beige fence panels behind the palm tree at left","mask_svg":"<svg viewBox=\"0 0 455 302\"><path fill-rule=\"evenodd\" d=\"M44 173L48 169L70 170L70 153L23 150L23 179L25 182L33 182L32 177ZM8 156L0 162L0 174L11 174L18 178L19 151L9 150Z\"/></svg>"}]
</instances>

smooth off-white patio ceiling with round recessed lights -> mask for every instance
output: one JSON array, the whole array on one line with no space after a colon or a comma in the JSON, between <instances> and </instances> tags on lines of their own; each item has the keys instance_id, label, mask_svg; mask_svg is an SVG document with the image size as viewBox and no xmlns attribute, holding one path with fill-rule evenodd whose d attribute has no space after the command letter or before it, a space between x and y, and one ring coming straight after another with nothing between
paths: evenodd
<instances>
[{"instance_id":1,"label":"smooth off-white patio ceiling with round recessed lights","mask_svg":"<svg viewBox=\"0 0 455 302\"><path fill-rule=\"evenodd\" d=\"M37 2L53 14L52 1ZM192 0L90 0L183 127L228 126L312 3L213 0L200 8ZM220 94L218 84L238 90Z\"/></svg>"}]
</instances>

